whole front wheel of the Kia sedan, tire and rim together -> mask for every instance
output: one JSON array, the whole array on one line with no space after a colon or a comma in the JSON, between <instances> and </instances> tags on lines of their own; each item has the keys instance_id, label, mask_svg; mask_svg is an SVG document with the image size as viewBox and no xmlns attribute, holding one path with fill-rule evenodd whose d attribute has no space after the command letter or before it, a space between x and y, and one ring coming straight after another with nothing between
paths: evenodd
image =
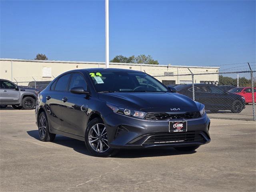
<instances>
[{"instance_id":1,"label":"whole front wheel of the Kia sedan, tire and rim together","mask_svg":"<svg viewBox=\"0 0 256 192\"><path fill-rule=\"evenodd\" d=\"M107 130L101 118L90 121L84 140L86 148L94 156L110 157L116 153L116 150L108 145Z\"/></svg>"}]
</instances>

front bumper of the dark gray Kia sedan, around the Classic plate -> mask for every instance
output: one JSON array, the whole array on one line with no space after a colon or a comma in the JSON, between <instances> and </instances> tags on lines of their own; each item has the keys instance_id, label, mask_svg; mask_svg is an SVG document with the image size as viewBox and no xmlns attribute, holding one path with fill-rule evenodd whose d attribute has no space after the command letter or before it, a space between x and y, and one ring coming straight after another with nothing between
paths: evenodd
<instances>
[{"instance_id":1,"label":"front bumper of the dark gray Kia sedan, around the Classic plate","mask_svg":"<svg viewBox=\"0 0 256 192\"><path fill-rule=\"evenodd\" d=\"M188 119L187 132L178 133L169 132L169 120L141 120L115 113L103 120L108 144L112 148L195 146L210 142L210 119L207 115Z\"/></svg>"}]
</instances>

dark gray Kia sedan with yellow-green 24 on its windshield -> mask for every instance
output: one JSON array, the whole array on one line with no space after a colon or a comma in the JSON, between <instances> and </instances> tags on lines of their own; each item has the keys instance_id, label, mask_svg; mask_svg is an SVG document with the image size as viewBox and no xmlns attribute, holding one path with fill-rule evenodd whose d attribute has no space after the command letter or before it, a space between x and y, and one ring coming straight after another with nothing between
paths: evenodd
<instances>
[{"instance_id":1,"label":"dark gray Kia sedan with yellow-green 24 on its windshield","mask_svg":"<svg viewBox=\"0 0 256 192\"><path fill-rule=\"evenodd\" d=\"M85 142L94 156L123 148L195 150L210 142L204 105L134 70L72 70L55 78L36 106L40 140L56 134Z\"/></svg>"}]
</instances>

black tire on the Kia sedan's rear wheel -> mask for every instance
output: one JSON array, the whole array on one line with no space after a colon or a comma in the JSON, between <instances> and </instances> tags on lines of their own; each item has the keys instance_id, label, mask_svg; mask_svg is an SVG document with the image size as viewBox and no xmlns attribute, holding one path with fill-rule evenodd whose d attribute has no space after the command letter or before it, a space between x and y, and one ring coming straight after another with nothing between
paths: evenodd
<instances>
[{"instance_id":1,"label":"black tire on the Kia sedan's rear wheel","mask_svg":"<svg viewBox=\"0 0 256 192\"><path fill-rule=\"evenodd\" d=\"M41 112L38 118L38 134L41 141L53 141L56 136L56 134L49 132L49 125L45 112Z\"/></svg>"}]
</instances>

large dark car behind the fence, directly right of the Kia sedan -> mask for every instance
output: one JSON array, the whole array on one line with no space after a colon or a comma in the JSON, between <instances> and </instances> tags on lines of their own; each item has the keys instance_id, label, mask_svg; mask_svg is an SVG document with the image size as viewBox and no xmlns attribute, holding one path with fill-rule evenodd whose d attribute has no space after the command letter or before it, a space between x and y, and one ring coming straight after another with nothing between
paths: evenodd
<instances>
[{"instance_id":1,"label":"large dark car behind the fence, directly right of the Kia sedan","mask_svg":"<svg viewBox=\"0 0 256 192\"><path fill-rule=\"evenodd\" d=\"M192 84L175 86L177 93L193 98ZM230 110L240 113L245 107L244 97L225 92L212 84L194 84L195 101L205 105L206 110L216 113L219 110Z\"/></svg>"}]
</instances>

